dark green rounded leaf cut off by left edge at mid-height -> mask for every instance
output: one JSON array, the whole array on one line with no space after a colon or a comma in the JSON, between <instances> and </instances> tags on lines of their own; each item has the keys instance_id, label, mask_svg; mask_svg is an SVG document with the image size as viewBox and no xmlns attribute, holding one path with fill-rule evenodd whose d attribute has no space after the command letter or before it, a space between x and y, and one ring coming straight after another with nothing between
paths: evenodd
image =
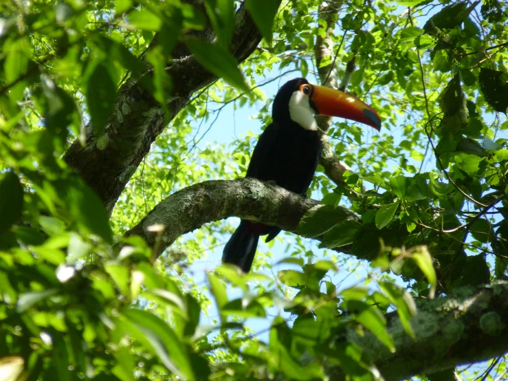
<instances>
[{"instance_id":1,"label":"dark green rounded leaf cut off by left edge at mid-height","mask_svg":"<svg viewBox=\"0 0 508 381\"><path fill-rule=\"evenodd\" d=\"M0 233L21 218L23 186L14 172L0 175Z\"/></svg>"}]
</instances>

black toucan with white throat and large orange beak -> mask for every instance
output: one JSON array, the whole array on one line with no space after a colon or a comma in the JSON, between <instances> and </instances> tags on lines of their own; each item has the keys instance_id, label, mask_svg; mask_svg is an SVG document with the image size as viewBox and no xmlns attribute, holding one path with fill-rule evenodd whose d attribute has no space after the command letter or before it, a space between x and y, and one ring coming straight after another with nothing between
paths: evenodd
<instances>
[{"instance_id":1,"label":"black toucan with white throat and large orange beak","mask_svg":"<svg viewBox=\"0 0 508 381\"><path fill-rule=\"evenodd\" d=\"M311 85L305 78L285 83L272 105L272 123L259 137L245 177L275 183L305 196L321 155L321 140L314 115L340 116L379 131L381 119L371 107L342 91ZM280 228L242 219L226 243L222 260L249 272L259 236L269 242Z\"/></svg>"}]
</instances>

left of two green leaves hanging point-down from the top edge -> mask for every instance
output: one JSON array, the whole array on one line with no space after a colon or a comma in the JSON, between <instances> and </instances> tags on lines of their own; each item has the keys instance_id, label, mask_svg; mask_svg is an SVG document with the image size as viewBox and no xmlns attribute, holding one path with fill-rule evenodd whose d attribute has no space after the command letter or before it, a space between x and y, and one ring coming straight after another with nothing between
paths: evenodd
<instances>
[{"instance_id":1,"label":"left of two green leaves hanging point-down from the top edge","mask_svg":"<svg viewBox=\"0 0 508 381\"><path fill-rule=\"evenodd\" d=\"M219 45L228 49L234 30L233 2L231 0L206 0L205 7Z\"/></svg>"}]
</instances>

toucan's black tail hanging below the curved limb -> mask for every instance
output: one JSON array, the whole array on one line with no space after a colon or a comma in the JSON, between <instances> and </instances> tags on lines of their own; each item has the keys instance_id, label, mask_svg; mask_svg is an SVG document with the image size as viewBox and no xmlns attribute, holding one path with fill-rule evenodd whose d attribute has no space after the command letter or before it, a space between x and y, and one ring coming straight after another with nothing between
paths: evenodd
<instances>
[{"instance_id":1,"label":"toucan's black tail hanging below the curved limb","mask_svg":"<svg viewBox=\"0 0 508 381\"><path fill-rule=\"evenodd\" d=\"M249 272L254 261L259 235L251 228L250 221L242 220L236 231L231 236L222 254L224 263L232 263L239 266L243 272ZM254 230L254 232L252 231Z\"/></svg>"}]
</instances>

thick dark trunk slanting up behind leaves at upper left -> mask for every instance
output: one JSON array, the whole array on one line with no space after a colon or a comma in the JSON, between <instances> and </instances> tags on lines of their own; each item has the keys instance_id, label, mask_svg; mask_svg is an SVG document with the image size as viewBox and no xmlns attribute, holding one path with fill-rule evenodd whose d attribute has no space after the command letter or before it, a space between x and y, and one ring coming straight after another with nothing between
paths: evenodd
<instances>
[{"instance_id":1,"label":"thick dark trunk slanting up behind leaves at upper left","mask_svg":"<svg viewBox=\"0 0 508 381\"><path fill-rule=\"evenodd\" d=\"M236 14L230 45L232 54L242 62L260 41L261 34L242 6ZM185 49L181 50L184 54ZM187 104L194 91L216 79L193 56L176 59L166 71L173 78L173 98L167 103L170 120ZM65 153L65 161L96 190L111 213L120 193L164 127L166 121L160 105L138 81L128 80L117 96L107 124L107 135L90 134L85 146L76 140ZM105 147L98 148L98 138L107 142Z\"/></svg>"}]
</instances>

